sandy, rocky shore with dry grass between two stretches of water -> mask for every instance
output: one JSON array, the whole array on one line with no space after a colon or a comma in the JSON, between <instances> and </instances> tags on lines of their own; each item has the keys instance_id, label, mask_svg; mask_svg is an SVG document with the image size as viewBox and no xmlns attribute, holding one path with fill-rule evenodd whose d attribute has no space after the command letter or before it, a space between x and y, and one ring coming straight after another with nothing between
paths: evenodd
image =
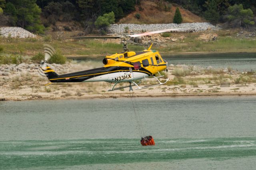
<instances>
[{"instance_id":1,"label":"sandy, rocky shore with dry grass between two stretches of water","mask_svg":"<svg viewBox=\"0 0 256 170\"><path fill-rule=\"evenodd\" d=\"M58 73L90 69L91 66L67 63L52 64ZM37 63L0 65L0 101L30 99L84 99L129 97L128 89L108 91L113 84L49 83L38 73ZM170 80L161 86L134 90L137 97L204 96L204 95L256 95L256 74L234 71L232 68L214 69L198 65L170 65L165 77ZM164 81L164 79L162 79ZM155 82L144 82L144 85ZM125 85L125 84L123 84Z\"/></svg>"}]
</instances>

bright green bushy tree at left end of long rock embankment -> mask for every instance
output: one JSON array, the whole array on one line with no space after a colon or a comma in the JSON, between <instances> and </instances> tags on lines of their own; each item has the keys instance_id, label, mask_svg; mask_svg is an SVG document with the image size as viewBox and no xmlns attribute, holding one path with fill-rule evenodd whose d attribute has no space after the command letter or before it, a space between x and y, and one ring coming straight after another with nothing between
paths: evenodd
<instances>
[{"instance_id":1,"label":"bright green bushy tree at left end of long rock embankment","mask_svg":"<svg viewBox=\"0 0 256 170\"><path fill-rule=\"evenodd\" d=\"M110 24L114 24L114 23L115 23L115 14L114 12L110 12L108 14L103 14L103 16L99 16L94 24L97 28L106 30L106 28L110 26Z\"/></svg>"}]
</instances>

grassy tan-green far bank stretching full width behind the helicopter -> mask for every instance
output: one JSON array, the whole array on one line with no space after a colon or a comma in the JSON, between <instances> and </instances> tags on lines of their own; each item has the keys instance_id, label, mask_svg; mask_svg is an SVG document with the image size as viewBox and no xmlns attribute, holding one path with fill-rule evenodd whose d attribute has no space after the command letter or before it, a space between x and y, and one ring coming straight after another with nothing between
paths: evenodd
<instances>
[{"instance_id":1,"label":"grassy tan-green far bank stretching full width behind the helicopter","mask_svg":"<svg viewBox=\"0 0 256 170\"><path fill-rule=\"evenodd\" d=\"M184 52L256 52L256 39L237 38L233 31L219 31L218 40L214 42L204 42L198 40L203 32L199 33L171 33L171 36L178 38L184 36L184 40L170 42L166 45L153 46L152 49L165 53L184 53ZM43 52L43 44L49 43L56 49L59 49L63 55L92 55L92 54L112 54L122 51L122 45L118 40L51 40L46 38L0 38L0 47L3 53L34 56L38 52ZM146 47L146 46L145 46ZM141 51L142 45L129 44L131 51Z\"/></svg>"}]
</instances>

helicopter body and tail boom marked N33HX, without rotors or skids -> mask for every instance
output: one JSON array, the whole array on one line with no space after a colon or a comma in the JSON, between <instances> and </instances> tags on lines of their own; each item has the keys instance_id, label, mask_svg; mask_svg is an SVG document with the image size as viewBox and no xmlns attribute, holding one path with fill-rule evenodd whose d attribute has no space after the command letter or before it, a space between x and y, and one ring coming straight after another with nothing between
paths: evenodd
<instances>
[{"instance_id":1,"label":"helicopter body and tail boom marked N33HX, without rotors or skids","mask_svg":"<svg viewBox=\"0 0 256 170\"><path fill-rule=\"evenodd\" d=\"M47 65L42 70L52 83L94 82L113 83L132 82L155 75L167 67L167 62L155 50L116 53L103 59L104 67L58 75Z\"/></svg>"}]
</instances>

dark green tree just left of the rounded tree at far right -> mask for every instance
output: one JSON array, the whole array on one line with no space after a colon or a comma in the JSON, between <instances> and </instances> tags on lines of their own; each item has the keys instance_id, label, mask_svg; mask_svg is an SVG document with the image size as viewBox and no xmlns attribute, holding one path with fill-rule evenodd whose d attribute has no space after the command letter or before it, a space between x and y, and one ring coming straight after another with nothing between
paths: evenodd
<instances>
[{"instance_id":1,"label":"dark green tree just left of the rounded tree at far right","mask_svg":"<svg viewBox=\"0 0 256 170\"><path fill-rule=\"evenodd\" d=\"M208 0L205 6L207 10L204 12L204 18L216 24L220 20L220 13L218 12L216 0Z\"/></svg>"}]
</instances>

